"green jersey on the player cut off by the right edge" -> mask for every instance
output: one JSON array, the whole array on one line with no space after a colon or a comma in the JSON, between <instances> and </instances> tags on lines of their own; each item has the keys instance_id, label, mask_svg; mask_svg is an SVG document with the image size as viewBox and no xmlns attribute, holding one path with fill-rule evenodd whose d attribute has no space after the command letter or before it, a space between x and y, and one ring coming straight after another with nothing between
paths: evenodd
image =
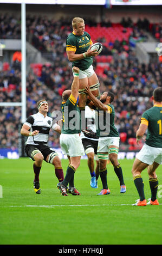
<instances>
[{"instance_id":1,"label":"green jersey on the player cut off by the right edge","mask_svg":"<svg viewBox=\"0 0 162 256\"><path fill-rule=\"evenodd\" d=\"M162 148L162 105L154 105L142 114L141 124L148 125L146 144Z\"/></svg>"}]
</instances>

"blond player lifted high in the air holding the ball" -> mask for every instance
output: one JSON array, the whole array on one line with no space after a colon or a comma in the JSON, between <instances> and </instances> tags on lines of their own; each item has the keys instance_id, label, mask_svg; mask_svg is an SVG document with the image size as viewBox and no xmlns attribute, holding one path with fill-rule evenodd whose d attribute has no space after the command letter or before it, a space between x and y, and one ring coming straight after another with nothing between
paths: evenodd
<instances>
[{"instance_id":1,"label":"blond player lifted high in the air holding the ball","mask_svg":"<svg viewBox=\"0 0 162 256\"><path fill-rule=\"evenodd\" d=\"M85 117L85 106L87 94L85 87L88 84L95 97L99 96L99 80L93 70L93 57L98 53L90 50L93 42L90 35L85 32L85 21L80 17L75 17L72 21L73 32L66 40L66 52L72 66L76 66L79 71L79 108L82 118ZM83 127L83 126L82 126ZM83 127L84 129L85 127ZM83 130L82 129L82 130Z\"/></svg>"}]
</instances>

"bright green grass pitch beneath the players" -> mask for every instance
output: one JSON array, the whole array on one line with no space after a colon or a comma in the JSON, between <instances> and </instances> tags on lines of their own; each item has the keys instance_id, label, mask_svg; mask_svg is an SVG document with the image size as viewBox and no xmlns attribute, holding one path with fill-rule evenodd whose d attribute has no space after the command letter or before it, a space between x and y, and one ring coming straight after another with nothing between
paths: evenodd
<instances>
[{"instance_id":1,"label":"bright green grass pitch beneath the players","mask_svg":"<svg viewBox=\"0 0 162 256\"><path fill-rule=\"evenodd\" d=\"M28 158L0 160L0 244L1 245L155 245L161 244L161 205L132 206L139 198L132 179L133 160L120 160L127 192L120 186L112 164L108 164L111 194L96 196L90 187L87 160L75 173L81 196L63 197L56 188L54 167L43 162L41 194L33 190L33 161ZM62 160L64 174L68 161ZM161 166L157 170L162 184ZM147 170L142 173L145 196L151 196ZM159 195L160 191L159 191ZM162 198L158 198L162 203ZM123 204L123 205L122 205ZM53 205L53 206L52 206ZM14 207L15 206L15 207ZM42 207L38 207L42 206Z\"/></svg>"}]
</instances>

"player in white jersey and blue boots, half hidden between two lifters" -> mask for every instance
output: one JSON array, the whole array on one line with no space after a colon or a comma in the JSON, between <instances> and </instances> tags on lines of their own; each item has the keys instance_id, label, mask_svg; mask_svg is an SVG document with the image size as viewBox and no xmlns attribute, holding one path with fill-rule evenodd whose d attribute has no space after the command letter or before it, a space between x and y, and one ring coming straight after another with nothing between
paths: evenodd
<instances>
[{"instance_id":1,"label":"player in white jersey and blue boots, half hidden between two lifters","mask_svg":"<svg viewBox=\"0 0 162 256\"><path fill-rule=\"evenodd\" d=\"M99 159L98 159L98 142L99 137L96 135L95 126L95 110L86 106L85 109L86 127L87 132L81 132L82 144L85 149L85 153L88 157L88 167L91 175L90 186L93 188L98 188L98 178L99 178ZM94 137L89 137L89 129L94 132ZM96 161L96 167L94 170L94 158Z\"/></svg>"}]
</instances>

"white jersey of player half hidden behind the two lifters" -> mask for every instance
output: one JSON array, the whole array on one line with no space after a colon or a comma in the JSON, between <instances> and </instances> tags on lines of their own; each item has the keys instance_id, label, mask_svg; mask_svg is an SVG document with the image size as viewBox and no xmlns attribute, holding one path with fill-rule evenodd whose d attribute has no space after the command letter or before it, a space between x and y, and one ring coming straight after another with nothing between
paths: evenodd
<instances>
[{"instance_id":1,"label":"white jersey of player half hidden behind the two lifters","mask_svg":"<svg viewBox=\"0 0 162 256\"><path fill-rule=\"evenodd\" d=\"M88 129L90 129L96 133L95 116L96 116L95 110L94 109L92 110L92 109L90 109L90 107L86 106L86 108L85 108L86 126L88 127ZM99 140L99 138L97 136L96 136L96 138L88 138L84 135L83 132L81 132L80 137L81 137L81 139L92 139L92 141Z\"/></svg>"}]
</instances>

